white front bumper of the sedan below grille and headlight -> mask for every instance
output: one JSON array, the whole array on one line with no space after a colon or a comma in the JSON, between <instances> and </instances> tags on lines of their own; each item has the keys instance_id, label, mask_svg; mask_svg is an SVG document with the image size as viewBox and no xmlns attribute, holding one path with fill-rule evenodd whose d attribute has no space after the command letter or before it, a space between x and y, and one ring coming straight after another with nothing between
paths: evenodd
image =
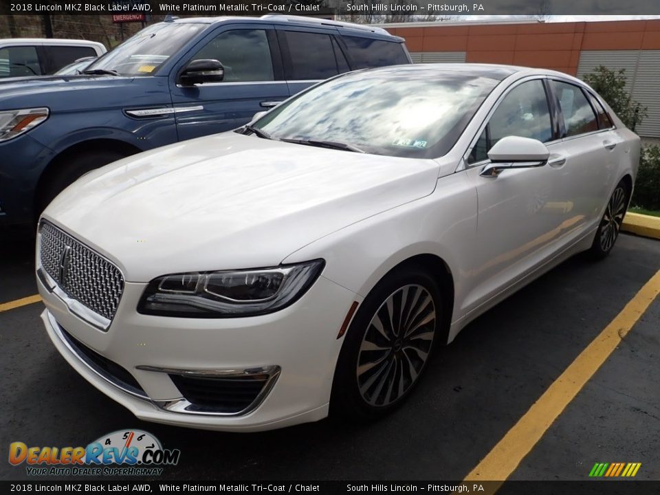
<instances>
[{"instance_id":1,"label":"white front bumper of the sedan below grille and headlight","mask_svg":"<svg viewBox=\"0 0 660 495\"><path fill-rule=\"evenodd\" d=\"M111 326L101 331L69 311L39 280L38 285L48 335L96 388L146 421L228 431L270 430L326 417L342 344L336 337L351 303L361 299L321 276L303 298L274 314L169 318L138 314L146 284L126 283ZM104 376L83 348L130 376ZM237 373L262 373L265 380L257 400L238 414L190 408L180 383L177 388L173 381L177 374Z\"/></svg>"}]
</instances>

